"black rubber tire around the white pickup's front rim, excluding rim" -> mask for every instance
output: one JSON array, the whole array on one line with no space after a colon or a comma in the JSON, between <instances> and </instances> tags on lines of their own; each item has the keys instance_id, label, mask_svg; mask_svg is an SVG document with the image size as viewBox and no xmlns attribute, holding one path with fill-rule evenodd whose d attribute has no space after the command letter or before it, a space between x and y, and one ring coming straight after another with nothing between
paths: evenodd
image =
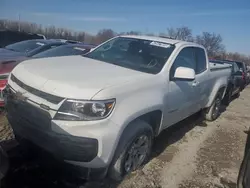
<instances>
[{"instance_id":1,"label":"black rubber tire around the white pickup's front rim, excluding rim","mask_svg":"<svg viewBox=\"0 0 250 188\"><path fill-rule=\"evenodd\" d=\"M134 143L137 141L137 139L141 137L147 137L148 139L148 147L145 154L145 157L140 161L138 166L134 169L125 170L125 164L127 164L127 157L131 153L128 153L128 151L131 151L132 146L134 146ZM152 127L141 120L136 120L132 122L129 127L127 127L118 144L118 147L116 149L114 158L110 164L108 176L112 180L115 181L121 181L127 174L130 172L140 168L143 166L147 161L151 154L151 148L153 143L153 129Z\"/></svg>"}]
</instances>

